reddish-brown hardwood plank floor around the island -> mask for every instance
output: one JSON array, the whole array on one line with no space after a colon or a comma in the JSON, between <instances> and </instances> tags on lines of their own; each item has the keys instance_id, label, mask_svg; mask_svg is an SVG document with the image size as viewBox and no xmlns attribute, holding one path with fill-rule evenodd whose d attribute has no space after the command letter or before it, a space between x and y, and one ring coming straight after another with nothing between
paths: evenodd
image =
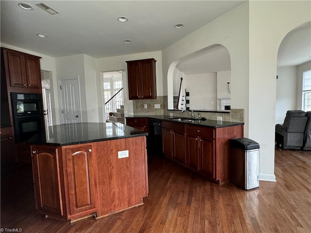
<instances>
[{"instance_id":1,"label":"reddish-brown hardwood plank floor around the island","mask_svg":"<svg viewBox=\"0 0 311 233\"><path fill-rule=\"evenodd\" d=\"M31 166L1 170L1 228L23 233L310 233L311 152L276 149L277 182L244 191L161 156L149 161L144 205L73 224L35 211ZM6 230L6 229L7 230Z\"/></svg>"}]
</instances>

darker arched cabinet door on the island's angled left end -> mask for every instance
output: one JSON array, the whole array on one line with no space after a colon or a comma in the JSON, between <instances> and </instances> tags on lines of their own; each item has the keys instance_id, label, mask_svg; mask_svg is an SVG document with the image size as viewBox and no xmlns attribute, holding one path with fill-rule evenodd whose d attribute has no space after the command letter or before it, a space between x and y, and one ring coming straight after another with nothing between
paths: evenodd
<instances>
[{"instance_id":1,"label":"darker arched cabinet door on the island's angled left end","mask_svg":"<svg viewBox=\"0 0 311 233\"><path fill-rule=\"evenodd\" d=\"M58 149L32 146L36 208L44 214L63 216Z\"/></svg>"}]
</instances>

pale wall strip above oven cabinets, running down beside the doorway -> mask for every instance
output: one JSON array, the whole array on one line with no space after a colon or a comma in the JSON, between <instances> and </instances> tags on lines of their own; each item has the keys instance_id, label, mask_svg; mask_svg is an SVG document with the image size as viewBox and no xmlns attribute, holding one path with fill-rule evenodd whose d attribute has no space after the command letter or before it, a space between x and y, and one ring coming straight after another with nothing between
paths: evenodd
<instances>
[{"instance_id":1,"label":"pale wall strip above oven cabinets, running down beside the doorway","mask_svg":"<svg viewBox=\"0 0 311 233\"><path fill-rule=\"evenodd\" d=\"M47 56L41 53L37 53L34 51L30 51L30 50L25 50L22 48L18 48L15 46L11 46L8 44L4 44L4 43L0 43L1 47L5 47L11 50L17 50L17 51L21 51L21 52L25 52L28 54L33 54L35 56L39 56L41 57L40 59L40 67L41 70L47 70L47 71L52 71L52 78L50 80L51 82L51 97L52 97L52 117L53 117L53 122L55 124L59 124L60 123L60 108L58 105L58 94L57 94L57 88L58 88L58 84L57 84L57 78L56 78L56 64L55 64L55 58L51 57L51 56Z\"/></svg>"}]
</instances>

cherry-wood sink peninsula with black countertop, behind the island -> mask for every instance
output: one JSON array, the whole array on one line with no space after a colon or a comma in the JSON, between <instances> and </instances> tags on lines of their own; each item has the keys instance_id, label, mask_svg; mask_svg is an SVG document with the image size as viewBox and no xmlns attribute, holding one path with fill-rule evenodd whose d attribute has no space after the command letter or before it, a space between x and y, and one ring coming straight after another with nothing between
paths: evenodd
<instances>
[{"instance_id":1,"label":"cherry-wood sink peninsula with black countertop, behind the island","mask_svg":"<svg viewBox=\"0 0 311 233\"><path fill-rule=\"evenodd\" d=\"M219 184L230 180L229 142L243 136L243 122L153 115L126 116L126 124L148 132L151 147L154 138L161 138L162 153L173 162Z\"/></svg>"}]
</instances>

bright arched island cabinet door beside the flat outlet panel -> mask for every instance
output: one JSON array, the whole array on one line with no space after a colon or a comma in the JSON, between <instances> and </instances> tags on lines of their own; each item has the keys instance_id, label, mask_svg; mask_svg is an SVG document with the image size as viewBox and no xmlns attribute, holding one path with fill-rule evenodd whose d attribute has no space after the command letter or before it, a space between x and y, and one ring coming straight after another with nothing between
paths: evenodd
<instances>
[{"instance_id":1,"label":"bright arched island cabinet door beside the flat outlet panel","mask_svg":"<svg viewBox=\"0 0 311 233\"><path fill-rule=\"evenodd\" d=\"M92 146L66 149L70 215L95 208Z\"/></svg>"}]
</instances>

